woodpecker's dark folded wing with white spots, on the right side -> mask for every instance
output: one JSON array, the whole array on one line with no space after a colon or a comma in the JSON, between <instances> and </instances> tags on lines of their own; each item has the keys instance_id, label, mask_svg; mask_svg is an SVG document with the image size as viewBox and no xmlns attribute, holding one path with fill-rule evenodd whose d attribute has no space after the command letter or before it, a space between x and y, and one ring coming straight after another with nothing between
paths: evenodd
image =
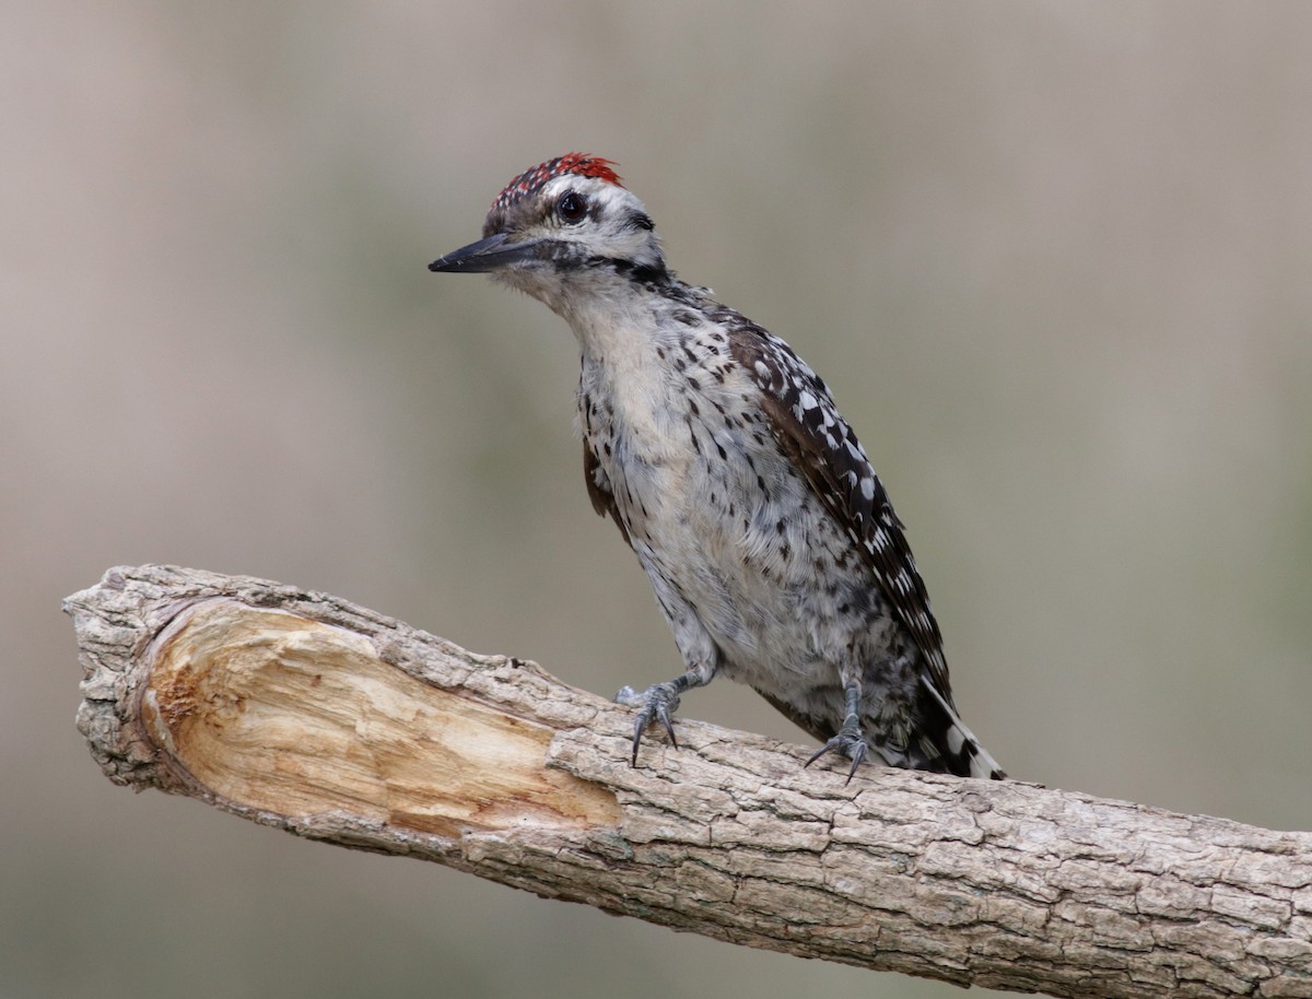
<instances>
[{"instance_id":1,"label":"woodpecker's dark folded wing with white spots, on the right side","mask_svg":"<svg viewBox=\"0 0 1312 999\"><path fill-rule=\"evenodd\" d=\"M903 524L824 382L778 337L726 309L733 358L756 379L762 408L830 517L851 535L897 620L924 656L929 679L953 704L943 637Z\"/></svg>"}]
</instances>

